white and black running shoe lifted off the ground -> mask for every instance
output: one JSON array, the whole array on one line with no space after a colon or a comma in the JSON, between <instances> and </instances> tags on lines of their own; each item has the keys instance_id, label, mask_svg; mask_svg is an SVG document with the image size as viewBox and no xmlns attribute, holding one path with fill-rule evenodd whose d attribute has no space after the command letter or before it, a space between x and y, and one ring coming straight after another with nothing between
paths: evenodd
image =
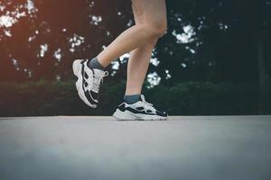
<instances>
[{"instance_id":1,"label":"white and black running shoe lifted off the ground","mask_svg":"<svg viewBox=\"0 0 271 180\"><path fill-rule=\"evenodd\" d=\"M88 59L75 60L72 69L73 74L78 77L76 88L80 99L89 107L96 108L99 86L103 82L103 78L108 76L108 72L89 68Z\"/></svg>"}]
</instances>

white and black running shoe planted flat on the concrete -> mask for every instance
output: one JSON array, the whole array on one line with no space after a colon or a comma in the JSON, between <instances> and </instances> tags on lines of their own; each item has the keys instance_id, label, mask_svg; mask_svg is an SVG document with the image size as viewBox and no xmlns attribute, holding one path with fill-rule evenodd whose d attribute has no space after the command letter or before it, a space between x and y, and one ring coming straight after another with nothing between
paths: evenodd
<instances>
[{"instance_id":1,"label":"white and black running shoe planted flat on the concrete","mask_svg":"<svg viewBox=\"0 0 271 180\"><path fill-rule=\"evenodd\" d=\"M158 121L167 120L168 114L157 111L152 103L145 101L145 96L142 94L140 100L136 103L121 103L118 105L113 117L119 121Z\"/></svg>"}]
</instances>

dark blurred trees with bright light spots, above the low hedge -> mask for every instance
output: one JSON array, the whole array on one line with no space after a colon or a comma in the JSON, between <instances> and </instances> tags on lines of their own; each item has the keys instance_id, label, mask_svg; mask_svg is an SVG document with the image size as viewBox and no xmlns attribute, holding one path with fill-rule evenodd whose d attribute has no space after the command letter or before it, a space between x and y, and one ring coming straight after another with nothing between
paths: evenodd
<instances>
[{"instance_id":1,"label":"dark blurred trees with bright light spots, above the low hedge","mask_svg":"<svg viewBox=\"0 0 271 180\"><path fill-rule=\"evenodd\" d=\"M0 5L2 14L12 12L14 18L12 26L1 26L1 80L70 79L74 58L97 55L134 23L126 0ZM168 33L154 49L149 72L160 76L164 85L188 80L258 82L258 74L266 85L270 7L270 0L167 1ZM120 70L108 68L114 75L111 81L125 79L126 61L119 64Z\"/></svg>"}]
</instances>

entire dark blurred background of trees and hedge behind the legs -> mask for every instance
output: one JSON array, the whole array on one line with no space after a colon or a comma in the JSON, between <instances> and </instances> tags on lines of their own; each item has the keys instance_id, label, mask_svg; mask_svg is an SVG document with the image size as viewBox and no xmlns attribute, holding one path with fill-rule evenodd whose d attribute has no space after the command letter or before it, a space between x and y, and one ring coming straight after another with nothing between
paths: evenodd
<instances>
[{"instance_id":1,"label":"entire dark blurred background of trees and hedge behind the legs","mask_svg":"<svg viewBox=\"0 0 271 180\"><path fill-rule=\"evenodd\" d=\"M271 0L166 2L147 101L171 115L270 114ZM107 68L98 109L79 100L71 64L132 25L129 0L1 0L0 116L111 115L129 55Z\"/></svg>"}]
</instances>

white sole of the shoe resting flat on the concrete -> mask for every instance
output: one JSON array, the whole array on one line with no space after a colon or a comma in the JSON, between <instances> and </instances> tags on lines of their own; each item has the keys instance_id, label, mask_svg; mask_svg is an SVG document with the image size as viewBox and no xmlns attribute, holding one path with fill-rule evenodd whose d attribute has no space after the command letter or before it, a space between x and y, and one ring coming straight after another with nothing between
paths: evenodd
<instances>
[{"instance_id":1,"label":"white sole of the shoe resting flat on the concrete","mask_svg":"<svg viewBox=\"0 0 271 180\"><path fill-rule=\"evenodd\" d=\"M113 114L113 117L117 119L117 121L165 121L168 118L158 115L133 114L128 111L122 112L118 109Z\"/></svg>"}]
</instances>

